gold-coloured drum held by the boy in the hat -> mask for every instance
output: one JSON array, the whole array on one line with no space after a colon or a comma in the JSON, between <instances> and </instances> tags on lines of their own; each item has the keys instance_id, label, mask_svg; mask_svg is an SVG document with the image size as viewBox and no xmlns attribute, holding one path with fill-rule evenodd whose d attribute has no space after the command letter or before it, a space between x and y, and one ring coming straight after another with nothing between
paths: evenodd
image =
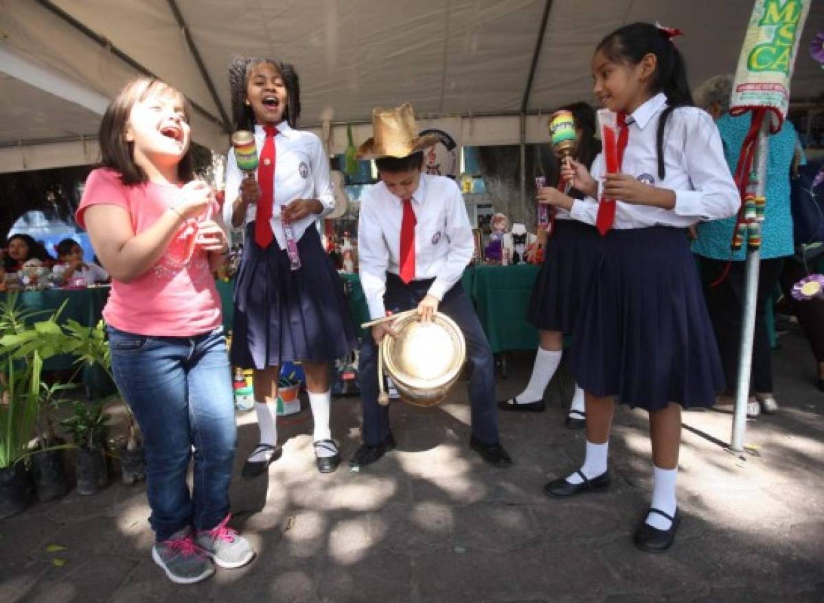
<instances>
[{"instance_id":1,"label":"gold-coloured drum held by the boy in the hat","mask_svg":"<svg viewBox=\"0 0 824 603\"><path fill-rule=\"evenodd\" d=\"M447 396L466 362L466 341L455 321L436 313L427 324L416 312L399 315L397 337L385 337L379 363L391 376L402 400L433 406ZM380 376L382 382L382 376ZM386 399L385 399L386 401Z\"/></svg>"}]
</instances>

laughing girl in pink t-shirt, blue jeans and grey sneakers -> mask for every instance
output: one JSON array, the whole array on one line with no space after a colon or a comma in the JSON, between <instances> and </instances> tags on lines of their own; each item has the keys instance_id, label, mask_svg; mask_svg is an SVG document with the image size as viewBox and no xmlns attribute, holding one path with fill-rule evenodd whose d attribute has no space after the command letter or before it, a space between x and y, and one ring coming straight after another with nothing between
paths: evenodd
<instances>
[{"instance_id":1,"label":"laughing girl in pink t-shirt, blue jeans and grey sneakers","mask_svg":"<svg viewBox=\"0 0 824 603\"><path fill-rule=\"evenodd\" d=\"M112 279L103 315L115 381L143 432L152 559L184 584L214 573L209 558L239 568L255 555L227 527L236 426L210 268L228 244L212 189L194 180L189 115L163 82L126 86L103 115L103 166L77 209Z\"/></svg>"}]
</instances>

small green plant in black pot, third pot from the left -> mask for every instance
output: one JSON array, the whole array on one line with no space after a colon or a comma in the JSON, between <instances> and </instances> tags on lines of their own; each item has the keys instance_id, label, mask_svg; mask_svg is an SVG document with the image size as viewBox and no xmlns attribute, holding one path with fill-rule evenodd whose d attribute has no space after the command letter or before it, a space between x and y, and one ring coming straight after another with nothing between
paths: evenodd
<instances>
[{"instance_id":1,"label":"small green plant in black pot, third pot from the left","mask_svg":"<svg viewBox=\"0 0 824 603\"><path fill-rule=\"evenodd\" d=\"M61 424L77 446L77 493L96 494L109 483L109 468L105 458L105 442L109 433L109 414L103 403L76 401L74 414Z\"/></svg>"}]
</instances>

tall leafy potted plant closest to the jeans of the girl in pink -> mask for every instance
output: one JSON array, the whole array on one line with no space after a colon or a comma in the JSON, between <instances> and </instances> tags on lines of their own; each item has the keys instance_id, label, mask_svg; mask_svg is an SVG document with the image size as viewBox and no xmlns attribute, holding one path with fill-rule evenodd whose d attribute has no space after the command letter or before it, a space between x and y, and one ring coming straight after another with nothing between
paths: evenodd
<instances>
[{"instance_id":1,"label":"tall leafy potted plant closest to the jeans of the girl in pink","mask_svg":"<svg viewBox=\"0 0 824 603\"><path fill-rule=\"evenodd\" d=\"M110 383L115 382L111 372L111 353L109 342L105 339L105 325L101 320L95 327L80 325L75 320L68 320L63 325L68 337L73 340L72 353L77 356L77 363L81 367L96 367L105 372ZM113 442L117 446L117 455L120 460L120 471L124 484L146 478L146 461L143 455L143 439L140 435L138 423L132 409L123 395L120 395L127 416L127 433L124 438L116 438Z\"/></svg>"}]
</instances>

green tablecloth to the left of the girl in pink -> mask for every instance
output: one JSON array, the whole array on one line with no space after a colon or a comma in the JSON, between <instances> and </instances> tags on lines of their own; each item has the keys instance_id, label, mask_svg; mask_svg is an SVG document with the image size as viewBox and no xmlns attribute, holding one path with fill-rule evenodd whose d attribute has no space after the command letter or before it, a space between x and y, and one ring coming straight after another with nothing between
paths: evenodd
<instances>
[{"instance_id":1,"label":"green tablecloth to the left of the girl in pink","mask_svg":"<svg viewBox=\"0 0 824 603\"><path fill-rule=\"evenodd\" d=\"M26 311L39 312L33 320L48 320L63 302L66 306L60 314L60 322L77 320L81 325L94 326L103 317L103 306L109 299L110 287L89 289L44 289L43 291L21 291L17 295L19 303ZM0 293L0 301L7 300L7 293ZM47 371L65 371L73 368L73 358L56 356L44 363Z\"/></svg>"}]
</instances>

